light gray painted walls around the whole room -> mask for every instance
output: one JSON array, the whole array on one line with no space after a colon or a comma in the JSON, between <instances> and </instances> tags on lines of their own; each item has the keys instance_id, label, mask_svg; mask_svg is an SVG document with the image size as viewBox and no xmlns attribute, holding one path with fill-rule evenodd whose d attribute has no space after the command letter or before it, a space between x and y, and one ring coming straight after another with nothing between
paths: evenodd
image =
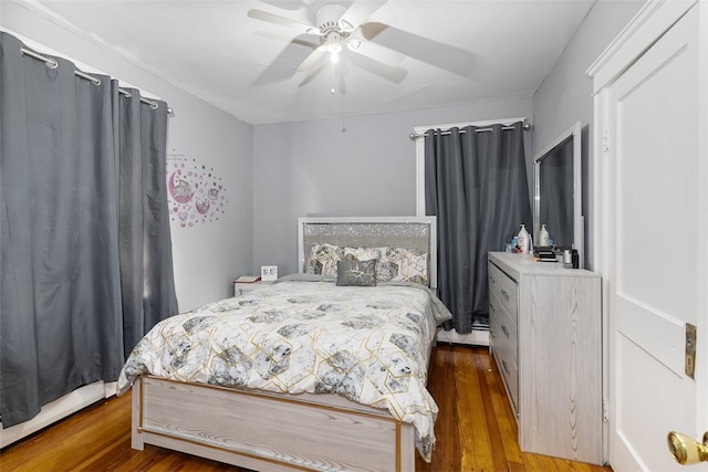
<instances>
[{"instance_id":1,"label":"light gray painted walls around the whole room","mask_svg":"<svg viewBox=\"0 0 708 472\"><path fill-rule=\"evenodd\" d=\"M257 127L17 3L0 2L0 28L167 101L175 109L168 149L223 178L229 201L223 218L173 225L177 295L180 308L190 310L229 295L233 276L257 273L260 265L295 272L300 216L414 214L415 146L408 139L414 127L527 116L534 126L527 137L530 161L534 148L580 119L590 156L585 70L641 4L598 1L533 98Z\"/></svg>"}]
</instances>

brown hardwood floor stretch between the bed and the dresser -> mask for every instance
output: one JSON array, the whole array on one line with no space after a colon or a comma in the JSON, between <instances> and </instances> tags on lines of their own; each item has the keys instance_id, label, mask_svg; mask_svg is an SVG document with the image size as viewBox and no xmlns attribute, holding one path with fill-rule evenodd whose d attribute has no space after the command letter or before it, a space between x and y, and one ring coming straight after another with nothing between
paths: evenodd
<instances>
[{"instance_id":1,"label":"brown hardwood floor stretch between the bed and the dresser","mask_svg":"<svg viewBox=\"0 0 708 472\"><path fill-rule=\"evenodd\" d=\"M428 390L440 409L437 442L433 462L416 458L416 471L612 471L521 452L517 421L487 347L438 345Z\"/></svg>"}]
</instances>

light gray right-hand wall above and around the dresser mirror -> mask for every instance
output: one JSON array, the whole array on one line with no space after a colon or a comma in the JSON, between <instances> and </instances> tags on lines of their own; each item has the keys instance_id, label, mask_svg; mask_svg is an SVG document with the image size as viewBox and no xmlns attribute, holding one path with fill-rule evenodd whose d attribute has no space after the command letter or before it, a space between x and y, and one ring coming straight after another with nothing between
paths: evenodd
<instances>
[{"instance_id":1,"label":"light gray right-hand wall above and around the dresser mirror","mask_svg":"<svg viewBox=\"0 0 708 472\"><path fill-rule=\"evenodd\" d=\"M592 81L585 71L610 45L644 1L600 0L562 56L533 95L533 158L556 136L580 120L583 127L583 213L585 214L585 266L592 269ZM529 162L532 165L532 161Z\"/></svg>"}]
</instances>

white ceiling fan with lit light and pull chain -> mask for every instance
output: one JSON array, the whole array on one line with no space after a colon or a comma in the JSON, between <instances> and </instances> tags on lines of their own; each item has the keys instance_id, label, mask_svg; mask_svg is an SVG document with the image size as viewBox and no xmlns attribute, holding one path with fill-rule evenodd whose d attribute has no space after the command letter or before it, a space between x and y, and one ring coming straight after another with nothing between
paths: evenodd
<instances>
[{"instance_id":1,"label":"white ceiling fan with lit light and pull chain","mask_svg":"<svg viewBox=\"0 0 708 472\"><path fill-rule=\"evenodd\" d=\"M257 20L293 28L301 33L317 38L319 44L309 44L313 48L312 53L295 69L295 72L312 71L301 83L301 86L312 81L324 69L327 63L325 59L335 64L343 53L351 54L351 62L354 65L399 83L407 75L407 71L398 66L404 55L367 41L362 32L368 18L386 1L353 1L348 8L336 0L319 2L312 6L311 23L257 9L249 10L248 15ZM381 28L381 23L376 24L377 28Z\"/></svg>"}]
</instances>

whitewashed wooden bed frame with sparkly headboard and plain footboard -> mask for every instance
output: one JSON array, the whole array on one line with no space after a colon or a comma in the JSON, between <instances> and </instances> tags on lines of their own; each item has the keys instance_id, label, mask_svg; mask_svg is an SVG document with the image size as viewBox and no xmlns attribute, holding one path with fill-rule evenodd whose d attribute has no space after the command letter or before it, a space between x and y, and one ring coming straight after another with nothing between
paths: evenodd
<instances>
[{"instance_id":1,"label":"whitewashed wooden bed frame with sparkly headboard and plain footboard","mask_svg":"<svg viewBox=\"0 0 708 472\"><path fill-rule=\"evenodd\" d=\"M301 218L300 271L314 242L405 247L430 254L435 217ZM392 239L393 238L393 239ZM414 471L415 431L337 395L278 395L143 376L133 385L132 447L154 444L270 471Z\"/></svg>"}]
</instances>

